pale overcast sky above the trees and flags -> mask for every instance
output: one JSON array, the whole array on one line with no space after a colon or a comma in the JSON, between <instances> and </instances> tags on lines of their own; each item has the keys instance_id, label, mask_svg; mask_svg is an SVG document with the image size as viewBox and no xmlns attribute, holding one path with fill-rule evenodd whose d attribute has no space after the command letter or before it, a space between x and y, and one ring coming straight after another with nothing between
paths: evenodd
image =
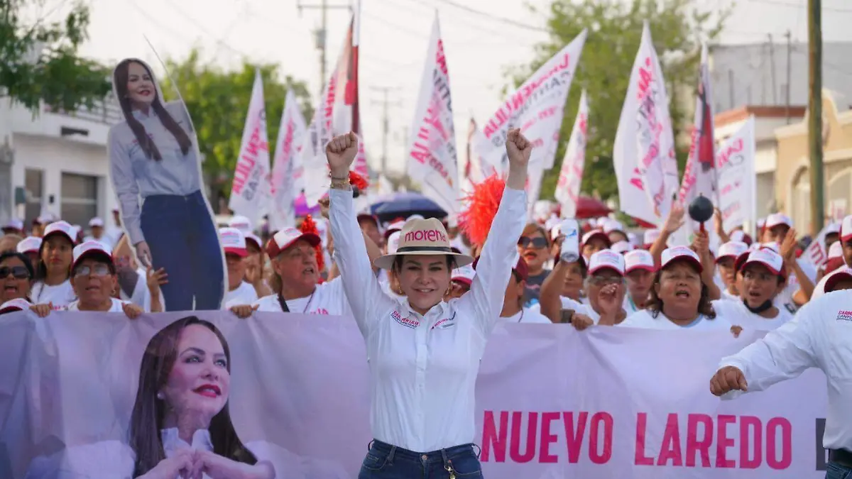
<instances>
[{"instance_id":1,"label":"pale overcast sky above the trees and flags","mask_svg":"<svg viewBox=\"0 0 852 479\"><path fill-rule=\"evenodd\" d=\"M349 20L349 0L326 0L343 8L327 12L327 63L337 59ZM314 29L320 25L322 0L89 0L92 21L83 55L114 62L139 56L158 62L158 54L181 58L193 45L223 66L242 57L279 64L282 74L307 81L314 95L320 89L320 55L314 47ZM46 0L33 18L59 20L66 0ZM306 8L301 12L297 3ZM533 45L544 32L510 26L485 12L529 26L544 26L544 17L528 11L543 0L362 0L360 87L366 147L374 164L381 156L383 93L389 88L389 165L401 169L403 139L412 123L423 57L435 10L439 12L447 65L452 84L458 141L462 141L471 114L480 122L498 107L505 66L528 61ZM724 7L731 0L705 0ZM824 41L852 41L852 1L823 0ZM764 42L768 34L778 41L787 31L794 40L807 40L807 0L739 0L728 20L723 43ZM758 20L759 21L756 21ZM850 52L852 54L852 52ZM497 59L496 61L494 59ZM582 61L582 59L581 59ZM803 72L807 74L807 72ZM625 72L629 75L629 72ZM850 74L852 81L852 74ZM279 118L270 118L270 122ZM309 121L309 118L308 118ZM235 132L239 135L240 132ZM273 139L271 139L273 141ZM565 139L567 141L567 139ZM462 144L459 144L462 147ZM459 159L462 161L463 159Z\"/></svg>"}]
</instances>

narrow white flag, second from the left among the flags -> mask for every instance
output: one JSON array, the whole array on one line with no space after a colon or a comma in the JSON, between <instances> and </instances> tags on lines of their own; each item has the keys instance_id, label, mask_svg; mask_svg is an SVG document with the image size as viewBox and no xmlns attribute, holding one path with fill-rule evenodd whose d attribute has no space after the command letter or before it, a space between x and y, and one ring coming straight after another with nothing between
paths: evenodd
<instances>
[{"instance_id":1,"label":"narrow white flag, second from the left among the flags","mask_svg":"<svg viewBox=\"0 0 852 479\"><path fill-rule=\"evenodd\" d=\"M299 149L307 129L305 118L302 117L302 111L296 102L296 95L293 89L289 89L284 102L284 112L281 113L272 167L273 202L269 211L269 224L276 230L296 227L293 201L304 188L304 165Z\"/></svg>"}]
</instances>

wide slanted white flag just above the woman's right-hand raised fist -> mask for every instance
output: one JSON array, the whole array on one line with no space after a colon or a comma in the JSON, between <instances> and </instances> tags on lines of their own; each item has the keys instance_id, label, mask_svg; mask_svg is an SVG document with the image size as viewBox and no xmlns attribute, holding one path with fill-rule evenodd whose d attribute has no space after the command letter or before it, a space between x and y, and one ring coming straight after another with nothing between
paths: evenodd
<instances>
[{"instance_id":1,"label":"wide slanted white flag just above the woman's right-hand raised fist","mask_svg":"<svg viewBox=\"0 0 852 479\"><path fill-rule=\"evenodd\" d=\"M533 143L531 170L534 167L553 167L565 101L585 38L584 30L527 78L492 118L482 124L481 132L474 139L474 147L490 166L486 170L501 173L508 170L505 144L510 128L520 128L521 133ZM486 171L486 176L491 171Z\"/></svg>"}]
</instances>

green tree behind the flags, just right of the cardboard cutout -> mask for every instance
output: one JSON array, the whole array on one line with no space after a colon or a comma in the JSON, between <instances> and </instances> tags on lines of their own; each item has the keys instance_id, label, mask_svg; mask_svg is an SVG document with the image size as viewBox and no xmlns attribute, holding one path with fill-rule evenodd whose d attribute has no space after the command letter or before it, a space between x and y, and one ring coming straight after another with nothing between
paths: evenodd
<instances>
[{"instance_id":1,"label":"green tree behind the flags, just right of the cardboard cutout","mask_svg":"<svg viewBox=\"0 0 852 479\"><path fill-rule=\"evenodd\" d=\"M226 71L202 61L197 49L193 49L185 60L165 63L198 132L199 149L204 155L204 176L211 188L212 199L224 199L231 193L233 169L237 163L256 69L260 69L263 78L270 161L276 147L274 143L278 138L287 91L293 89L306 121L310 121L313 114L308 86L290 76L280 79L276 65L245 62L238 70ZM174 95L175 88L165 79L163 90L164 95L169 96ZM216 210L216 203L213 205Z\"/></svg>"}]
</instances>

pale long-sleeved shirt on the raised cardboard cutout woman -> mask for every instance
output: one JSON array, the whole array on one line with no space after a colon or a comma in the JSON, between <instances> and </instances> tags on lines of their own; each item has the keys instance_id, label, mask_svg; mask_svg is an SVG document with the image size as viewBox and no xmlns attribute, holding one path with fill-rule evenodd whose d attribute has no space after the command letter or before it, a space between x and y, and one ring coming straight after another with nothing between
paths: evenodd
<instances>
[{"instance_id":1,"label":"pale long-sleeved shirt on the raised cardboard cutout woman","mask_svg":"<svg viewBox=\"0 0 852 479\"><path fill-rule=\"evenodd\" d=\"M183 102L170 101L164 107L194 141L193 124ZM133 116L145 127L163 159L158 161L145 156L126 121L110 128L110 175L131 245L145 240L140 222L140 196L143 200L154 194L186 196L201 189L201 168L194 145L184 155L175 136L165 128L153 109L147 116L134 110Z\"/></svg>"}]
</instances>

